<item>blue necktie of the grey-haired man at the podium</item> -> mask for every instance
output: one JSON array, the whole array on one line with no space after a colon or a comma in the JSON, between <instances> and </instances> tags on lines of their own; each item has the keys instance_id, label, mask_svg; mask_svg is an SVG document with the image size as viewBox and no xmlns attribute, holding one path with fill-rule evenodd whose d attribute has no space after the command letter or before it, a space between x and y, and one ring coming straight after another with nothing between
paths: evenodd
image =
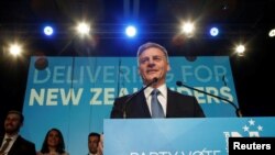
<instances>
[{"instance_id":1,"label":"blue necktie of the grey-haired man at the podium","mask_svg":"<svg viewBox=\"0 0 275 155\"><path fill-rule=\"evenodd\" d=\"M151 92L152 100L151 100L151 110L152 110L152 118L164 118L164 112L162 104L160 103L157 99L157 95L160 91L157 89L154 89Z\"/></svg>"}]
</instances>

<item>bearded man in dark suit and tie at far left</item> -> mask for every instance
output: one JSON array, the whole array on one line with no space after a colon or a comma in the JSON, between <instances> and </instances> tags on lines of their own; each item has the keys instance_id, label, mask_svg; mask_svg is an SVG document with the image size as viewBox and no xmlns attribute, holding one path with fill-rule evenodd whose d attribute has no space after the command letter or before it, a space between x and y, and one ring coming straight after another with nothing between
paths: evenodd
<instances>
[{"instance_id":1,"label":"bearded man in dark suit and tie at far left","mask_svg":"<svg viewBox=\"0 0 275 155\"><path fill-rule=\"evenodd\" d=\"M36 155L34 143L23 139L20 128L24 117L19 111L9 111L4 120L4 135L0 136L0 155ZM8 145L7 140L9 141Z\"/></svg>"}]
</instances>

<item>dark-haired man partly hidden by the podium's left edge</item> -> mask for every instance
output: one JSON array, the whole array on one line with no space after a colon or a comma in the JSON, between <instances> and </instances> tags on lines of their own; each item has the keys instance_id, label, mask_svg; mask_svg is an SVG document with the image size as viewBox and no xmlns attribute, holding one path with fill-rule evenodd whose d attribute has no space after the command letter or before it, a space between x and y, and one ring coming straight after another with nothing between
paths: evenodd
<instances>
[{"instance_id":1,"label":"dark-haired man partly hidden by the podium's left edge","mask_svg":"<svg viewBox=\"0 0 275 155\"><path fill-rule=\"evenodd\" d=\"M96 132L91 132L88 136L88 155L101 155L99 154L99 142L100 142L100 134Z\"/></svg>"}]
</instances>

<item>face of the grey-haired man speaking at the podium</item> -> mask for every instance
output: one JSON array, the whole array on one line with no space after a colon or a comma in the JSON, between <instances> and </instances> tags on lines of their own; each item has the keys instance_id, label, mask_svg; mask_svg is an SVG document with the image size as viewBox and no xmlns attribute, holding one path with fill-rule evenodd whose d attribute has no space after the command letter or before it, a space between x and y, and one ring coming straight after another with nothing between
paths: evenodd
<instances>
[{"instance_id":1,"label":"face of the grey-haired man speaking at the podium","mask_svg":"<svg viewBox=\"0 0 275 155\"><path fill-rule=\"evenodd\" d=\"M154 78L158 79L158 85L165 84L165 76L169 69L165 54L156 47L145 49L139 57L139 74L144 85Z\"/></svg>"}]
</instances>

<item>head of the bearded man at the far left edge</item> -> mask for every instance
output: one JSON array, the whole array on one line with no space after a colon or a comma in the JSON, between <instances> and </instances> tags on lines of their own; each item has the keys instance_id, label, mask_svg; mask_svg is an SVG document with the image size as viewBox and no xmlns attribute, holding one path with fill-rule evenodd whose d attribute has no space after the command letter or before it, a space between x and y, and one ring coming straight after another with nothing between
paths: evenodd
<instances>
[{"instance_id":1,"label":"head of the bearded man at the far left edge","mask_svg":"<svg viewBox=\"0 0 275 155\"><path fill-rule=\"evenodd\" d=\"M15 134L21 128L21 118L16 113L9 113L4 120L4 131L8 134Z\"/></svg>"}]
</instances>

